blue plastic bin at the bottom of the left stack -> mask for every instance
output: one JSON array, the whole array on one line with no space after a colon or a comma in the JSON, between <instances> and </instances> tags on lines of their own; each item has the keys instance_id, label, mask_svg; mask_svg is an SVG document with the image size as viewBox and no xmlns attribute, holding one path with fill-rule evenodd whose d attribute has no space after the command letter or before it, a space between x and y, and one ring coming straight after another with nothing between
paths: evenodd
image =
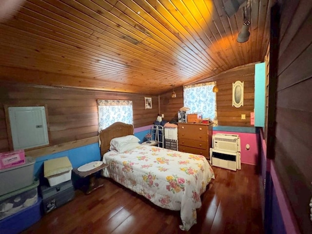
<instances>
[{"instance_id":1,"label":"blue plastic bin at the bottom of the left stack","mask_svg":"<svg viewBox=\"0 0 312 234\"><path fill-rule=\"evenodd\" d=\"M34 205L0 220L0 233L18 234L37 223L41 218L40 205L39 197Z\"/></svg>"}]
</instances>

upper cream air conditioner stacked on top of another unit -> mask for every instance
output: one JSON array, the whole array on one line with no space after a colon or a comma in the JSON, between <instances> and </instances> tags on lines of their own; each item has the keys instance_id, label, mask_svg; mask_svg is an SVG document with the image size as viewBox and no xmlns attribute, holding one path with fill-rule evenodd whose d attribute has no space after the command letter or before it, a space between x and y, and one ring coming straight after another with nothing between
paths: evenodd
<instances>
[{"instance_id":1,"label":"upper cream air conditioner stacked on top of another unit","mask_svg":"<svg viewBox=\"0 0 312 234\"><path fill-rule=\"evenodd\" d=\"M213 135L213 148L216 150L240 152L238 135L217 133Z\"/></svg>"}]
</instances>

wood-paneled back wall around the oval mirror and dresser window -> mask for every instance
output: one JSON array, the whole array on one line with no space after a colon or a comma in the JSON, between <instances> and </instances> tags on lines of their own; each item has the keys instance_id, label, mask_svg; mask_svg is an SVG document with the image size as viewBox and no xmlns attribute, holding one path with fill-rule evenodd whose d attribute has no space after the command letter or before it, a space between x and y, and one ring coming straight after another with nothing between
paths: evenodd
<instances>
[{"instance_id":1,"label":"wood-paneled back wall around the oval mirror and dresser window","mask_svg":"<svg viewBox=\"0 0 312 234\"><path fill-rule=\"evenodd\" d=\"M232 83L244 81L244 106L232 106ZM250 113L254 111L254 63L240 66L220 73L213 78L203 79L200 82L216 81L219 92L216 94L217 118L220 126L251 127ZM176 98L171 98L171 93L160 96L160 112L165 114L165 119L177 118L177 111L183 106L183 88L175 90ZM241 114L246 119L241 119Z\"/></svg>"}]
</instances>

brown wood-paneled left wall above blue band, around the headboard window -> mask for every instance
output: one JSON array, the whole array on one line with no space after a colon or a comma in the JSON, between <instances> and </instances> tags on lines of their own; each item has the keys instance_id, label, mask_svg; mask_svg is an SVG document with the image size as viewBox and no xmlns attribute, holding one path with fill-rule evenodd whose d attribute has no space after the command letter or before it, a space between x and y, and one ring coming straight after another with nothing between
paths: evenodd
<instances>
[{"instance_id":1,"label":"brown wood-paneled left wall above blue band, around the headboard window","mask_svg":"<svg viewBox=\"0 0 312 234\"><path fill-rule=\"evenodd\" d=\"M144 97L152 98L153 109L145 110ZM98 135L97 99L132 100L135 128L152 124L158 114L158 96L1 84L0 152L10 150L4 105L47 105L50 145L58 145Z\"/></svg>"}]
</instances>

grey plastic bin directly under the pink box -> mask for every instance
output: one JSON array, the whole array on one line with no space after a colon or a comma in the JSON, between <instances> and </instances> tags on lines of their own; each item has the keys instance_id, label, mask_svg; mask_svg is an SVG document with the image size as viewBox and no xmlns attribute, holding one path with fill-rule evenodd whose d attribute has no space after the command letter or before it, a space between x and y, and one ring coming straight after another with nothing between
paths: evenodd
<instances>
[{"instance_id":1,"label":"grey plastic bin directly under the pink box","mask_svg":"<svg viewBox=\"0 0 312 234\"><path fill-rule=\"evenodd\" d=\"M0 196L27 187L34 182L35 159L25 157L26 163L0 170Z\"/></svg>"}]
</instances>

